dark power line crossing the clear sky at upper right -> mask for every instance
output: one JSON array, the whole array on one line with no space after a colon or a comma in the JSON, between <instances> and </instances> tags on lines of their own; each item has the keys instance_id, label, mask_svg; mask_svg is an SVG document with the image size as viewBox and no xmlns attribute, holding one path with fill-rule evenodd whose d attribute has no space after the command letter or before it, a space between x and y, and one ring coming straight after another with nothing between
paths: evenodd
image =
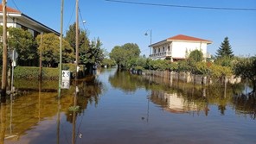
<instances>
[{"instance_id":1,"label":"dark power line crossing the clear sky at upper right","mask_svg":"<svg viewBox=\"0 0 256 144\"><path fill-rule=\"evenodd\" d=\"M250 8L221 8L221 7L200 7L200 6L189 6L189 5L174 5L174 4L161 4L161 3L140 3L140 2L128 2L118 0L105 0L113 3L129 3L139 5L150 5L150 6L161 6L161 7L175 7L175 8L188 8L188 9L215 9L215 10L243 10L243 11L256 11L256 9Z\"/></svg>"}]
</instances>

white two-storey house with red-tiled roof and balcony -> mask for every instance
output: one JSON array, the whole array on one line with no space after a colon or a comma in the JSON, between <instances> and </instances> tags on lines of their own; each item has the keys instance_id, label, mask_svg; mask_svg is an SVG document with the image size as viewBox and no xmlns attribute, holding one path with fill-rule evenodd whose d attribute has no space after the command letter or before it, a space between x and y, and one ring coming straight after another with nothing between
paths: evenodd
<instances>
[{"instance_id":1,"label":"white two-storey house with red-tiled roof and balcony","mask_svg":"<svg viewBox=\"0 0 256 144\"><path fill-rule=\"evenodd\" d=\"M212 41L203 40L187 35L176 35L166 40L151 44L151 59L171 59L176 61L179 59L186 59L189 53L194 50L200 50L203 53L203 58L209 57L207 53L207 46Z\"/></svg>"}]
</instances>

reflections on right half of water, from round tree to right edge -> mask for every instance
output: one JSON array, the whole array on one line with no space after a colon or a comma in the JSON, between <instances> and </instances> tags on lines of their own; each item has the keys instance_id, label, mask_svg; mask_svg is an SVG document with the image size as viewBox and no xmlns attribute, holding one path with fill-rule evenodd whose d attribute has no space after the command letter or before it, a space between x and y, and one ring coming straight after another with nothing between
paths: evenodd
<instances>
[{"instance_id":1,"label":"reflections on right half of water, from round tree to right edge","mask_svg":"<svg viewBox=\"0 0 256 144\"><path fill-rule=\"evenodd\" d=\"M112 87L125 92L136 91L144 87L150 90L150 101L160 105L163 110L174 113L187 112L208 116L208 105L218 105L221 115L225 115L227 104L252 115L255 119L256 101L254 97L240 97L238 93L245 90L244 83L215 83L212 85L195 85L184 83L174 78L156 76L138 76L129 72L117 71L109 78ZM234 100L235 99L235 100ZM176 103L173 103L176 102ZM243 106L244 105L244 106Z\"/></svg>"}]
</instances>

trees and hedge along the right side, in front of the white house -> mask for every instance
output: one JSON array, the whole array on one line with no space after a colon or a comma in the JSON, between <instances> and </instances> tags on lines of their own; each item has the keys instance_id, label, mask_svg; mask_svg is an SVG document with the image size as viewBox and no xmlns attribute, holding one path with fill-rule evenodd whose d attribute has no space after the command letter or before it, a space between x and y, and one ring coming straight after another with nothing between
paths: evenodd
<instances>
[{"instance_id":1,"label":"trees and hedge along the right side, in front of the white house","mask_svg":"<svg viewBox=\"0 0 256 144\"><path fill-rule=\"evenodd\" d=\"M124 46L114 47L110 53L110 58L117 63L118 68L125 70L134 68L136 70L190 72L208 78L241 77L250 80L253 84L253 91L256 90L256 56L234 56L227 37L221 42L221 46L210 59L203 59L200 50L189 53L187 59L175 62L171 62L170 58L153 60L139 56L139 53L136 44L128 43Z\"/></svg>"}]
</instances>

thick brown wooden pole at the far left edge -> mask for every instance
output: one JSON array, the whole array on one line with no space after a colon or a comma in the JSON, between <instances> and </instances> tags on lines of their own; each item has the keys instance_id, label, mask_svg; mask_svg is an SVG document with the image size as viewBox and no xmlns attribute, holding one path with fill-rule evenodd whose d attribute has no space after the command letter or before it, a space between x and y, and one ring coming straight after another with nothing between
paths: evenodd
<instances>
[{"instance_id":1,"label":"thick brown wooden pole at the far left edge","mask_svg":"<svg viewBox=\"0 0 256 144\"><path fill-rule=\"evenodd\" d=\"M3 5L3 70L2 70L2 91L1 97L6 96L7 85L7 16L6 16L6 0L2 0Z\"/></svg>"}]
</instances>

